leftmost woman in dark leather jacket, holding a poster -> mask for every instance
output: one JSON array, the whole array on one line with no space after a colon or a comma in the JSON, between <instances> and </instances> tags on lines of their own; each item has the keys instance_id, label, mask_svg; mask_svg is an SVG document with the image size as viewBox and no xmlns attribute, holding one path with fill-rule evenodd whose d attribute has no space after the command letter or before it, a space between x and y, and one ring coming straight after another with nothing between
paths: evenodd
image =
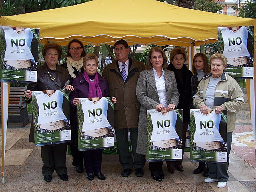
<instances>
[{"instance_id":1,"label":"leftmost woman in dark leather jacket, holding a poster","mask_svg":"<svg viewBox=\"0 0 256 192\"><path fill-rule=\"evenodd\" d=\"M61 46L56 43L45 44L42 48L42 55L45 64L37 68L37 81L30 83L24 94L28 103L31 102L32 91L57 90L64 87L66 90L74 90L73 86L68 85L68 70L58 65L58 60L62 55ZM34 142L33 123L31 123L29 141ZM52 180L54 169L61 180L68 181L66 152L66 143L41 146L41 156L44 163L42 174L46 182Z\"/></svg>"}]
</instances>

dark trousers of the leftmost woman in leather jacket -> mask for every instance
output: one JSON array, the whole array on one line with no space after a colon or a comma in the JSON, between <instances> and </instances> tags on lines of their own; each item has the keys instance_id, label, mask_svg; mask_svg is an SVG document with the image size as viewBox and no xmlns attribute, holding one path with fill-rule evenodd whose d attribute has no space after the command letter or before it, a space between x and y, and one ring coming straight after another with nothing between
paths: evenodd
<instances>
[{"instance_id":1,"label":"dark trousers of the leftmost woman in leather jacket","mask_svg":"<svg viewBox=\"0 0 256 192\"><path fill-rule=\"evenodd\" d=\"M67 174L66 153L66 143L41 146L42 174L51 175L54 169L58 175Z\"/></svg>"}]
</instances>

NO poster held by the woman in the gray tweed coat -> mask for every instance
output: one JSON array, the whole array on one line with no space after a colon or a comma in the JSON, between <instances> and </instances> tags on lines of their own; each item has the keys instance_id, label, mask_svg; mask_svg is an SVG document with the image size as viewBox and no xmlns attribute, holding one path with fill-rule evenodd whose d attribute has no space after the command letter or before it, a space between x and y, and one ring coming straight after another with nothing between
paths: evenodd
<instances>
[{"instance_id":1,"label":"NO poster held by the woman in the gray tweed coat","mask_svg":"<svg viewBox=\"0 0 256 192\"><path fill-rule=\"evenodd\" d=\"M147 110L147 160L182 159L182 110Z\"/></svg>"}]
</instances>

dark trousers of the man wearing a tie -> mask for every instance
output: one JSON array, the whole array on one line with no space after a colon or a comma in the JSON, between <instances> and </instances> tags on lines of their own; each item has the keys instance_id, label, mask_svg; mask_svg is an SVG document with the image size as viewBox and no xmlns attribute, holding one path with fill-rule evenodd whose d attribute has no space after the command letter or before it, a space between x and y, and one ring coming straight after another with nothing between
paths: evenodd
<instances>
[{"instance_id":1,"label":"dark trousers of the man wearing a tie","mask_svg":"<svg viewBox=\"0 0 256 192\"><path fill-rule=\"evenodd\" d=\"M134 168L143 168L146 159L142 154L136 153L138 128L130 128L129 131L134 159L132 159L132 155L129 152L128 128L115 130L119 162L124 169L132 169L133 166Z\"/></svg>"}]
</instances>

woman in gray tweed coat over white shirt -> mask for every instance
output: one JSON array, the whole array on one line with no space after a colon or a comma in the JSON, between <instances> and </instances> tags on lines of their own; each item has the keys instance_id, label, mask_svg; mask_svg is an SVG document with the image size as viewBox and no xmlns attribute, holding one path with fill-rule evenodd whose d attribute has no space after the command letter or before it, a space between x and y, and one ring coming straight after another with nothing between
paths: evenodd
<instances>
[{"instance_id":1,"label":"woman in gray tweed coat over white shirt","mask_svg":"<svg viewBox=\"0 0 256 192\"><path fill-rule=\"evenodd\" d=\"M178 105L179 93L176 80L174 73L166 70L167 66L164 50L160 47L154 47L148 54L146 70L140 72L138 78L136 95L141 106L136 152L139 154L146 155L147 109L156 109L164 113L174 110ZM157 140L154 142L156 145L161 143ZM149 162L151 175L156 181L162 181L164 178L162 165L163 161Z\"/></svg>"}]
</instances>

